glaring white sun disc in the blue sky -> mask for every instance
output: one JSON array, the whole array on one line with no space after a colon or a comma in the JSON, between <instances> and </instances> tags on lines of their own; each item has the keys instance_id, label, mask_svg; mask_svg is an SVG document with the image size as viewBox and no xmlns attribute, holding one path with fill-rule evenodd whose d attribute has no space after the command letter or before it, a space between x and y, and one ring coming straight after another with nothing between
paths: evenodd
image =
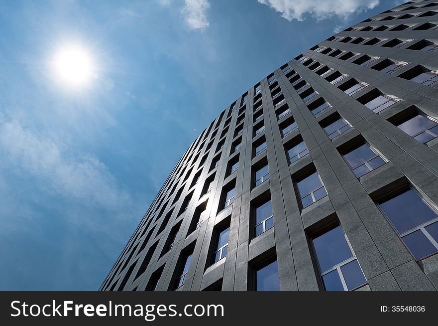
<instances>
[{"instance_id":1,"label":"glaring white sun disc in the blue sky","mask_svg":"<svg viewBox=\"0 0 438 326\"><path fill-rule=\"evenodd\" d=\"M55 52L52 65L56 79L65 86L83 88L93 79L92 56L80 45L61 46Z\"/></svg>"}]
</instances>

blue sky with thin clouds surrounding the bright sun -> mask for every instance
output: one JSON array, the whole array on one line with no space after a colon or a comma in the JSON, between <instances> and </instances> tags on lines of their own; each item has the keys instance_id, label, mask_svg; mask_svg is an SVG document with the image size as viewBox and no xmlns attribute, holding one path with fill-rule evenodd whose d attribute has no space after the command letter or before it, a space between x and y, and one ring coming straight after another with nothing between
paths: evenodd
<instances>
[{"instance_id":1,"label":"blue sky with thin clouds surrounding the bright sun","mask_svg":"<svg viewBox=\"0 0 438 326\"><path fill-rule=\"evenodd\" d=\"M96 290L244 91L395 0L0 1L0 290ZM54 53L94 62L69 88Z\"/></svg>"}]
</instances>

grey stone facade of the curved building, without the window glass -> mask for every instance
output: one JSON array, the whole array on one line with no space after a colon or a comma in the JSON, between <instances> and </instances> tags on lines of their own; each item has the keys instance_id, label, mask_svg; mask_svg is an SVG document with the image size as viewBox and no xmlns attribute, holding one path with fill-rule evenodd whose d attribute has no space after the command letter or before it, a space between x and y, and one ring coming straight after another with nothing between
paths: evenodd
<instances>
[{"instance_id":1,"label":"grey stone facade of the curved building, without the window glass","mask_svg":"<svg viewBox=\"0 0 438 326\"><path fill-rule=\"evenodd\" d=\"M425 23L431 25L422 26ZM158 281L156 291L174 290L182 257L193 252L187 279L178 291L253 290L254 267L275 258L282 291L322 291L311 236L337 220L367 280L358 290L436 291L438 255L416 260L376 204L385 193L408 184L433 209L438 204L438 138L423 144L393 124L412 110L438 119L437 83L426 86L404 77L418 66L438 70L438 51L409 49L420 47L423 40L438 43L436 25L438 5L433 0L410 1L292 59L260 81L259 93L257 84L245 92L172 170L100 290L144 291L154 280ZM364 44L373 38L380 43ZM389 42L401 45L385 46ZM342 52L333 56L336 50ZM348 52L354 57L343 60ZM392 73L372 68L387 59L401 62L401 67ZM348 76L332 84L329 80L339 74ZM270 83L272 76L275 81ZM352 79L364 87L350 96L339 87ZM303 97L312 93L310 88L318 94L304 102ZM396 102L375 113L362 103L377 91ZM245 95L246 104L241 105ZM262 107L254 109L259 97ZM321 98L331 107L314 116L310 108ZM282 115L285 104L290 112ZM262 118L256 119L261 112ZM330 140L323 127L335 115L351 128ZM282 127L292 121L298 129L283 137ZM264 131L255 135L262 124ZM287 150L300 137L309 154L290 163ZM359 178L341 155L357 140L365 141L387 161ZM255 156L254 148L263 142L266 150ZM241 147L233 152L237 143ZM237 161L237 171L229 174L229 165ZM269 179L255 186L254 171L265 163ZM319 172L328 196L302 208L296 180L309 168ZM213 183L206 193L207 180ZM232 187L234 202L223 209L224 193ZM253 207L266 198L272 201L274 227L254 237ZM193 219L200 212L204 222L194 229ZM216 233L223 225L230 227L227 255L212 264ZM171 249L165 252L169 236L173 239L175 233Z\"/></svg>"}]
</instances>

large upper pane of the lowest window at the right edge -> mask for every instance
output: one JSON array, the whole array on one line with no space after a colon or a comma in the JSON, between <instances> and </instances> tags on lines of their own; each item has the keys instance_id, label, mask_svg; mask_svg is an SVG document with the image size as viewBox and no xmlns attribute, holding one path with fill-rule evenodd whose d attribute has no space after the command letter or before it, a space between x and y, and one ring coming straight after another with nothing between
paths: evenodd
<instances>
[{"instance_id":1,"label":"large upper pane of the lowest window at the right edge","mask_svg":"<svg viewBox=\"0 0 438 326\"><path fill-rule=\"evenodd\" d=\"M380 204L396 229L404 233L437 214L411 189Z\"/></svg>"}]
</instances>

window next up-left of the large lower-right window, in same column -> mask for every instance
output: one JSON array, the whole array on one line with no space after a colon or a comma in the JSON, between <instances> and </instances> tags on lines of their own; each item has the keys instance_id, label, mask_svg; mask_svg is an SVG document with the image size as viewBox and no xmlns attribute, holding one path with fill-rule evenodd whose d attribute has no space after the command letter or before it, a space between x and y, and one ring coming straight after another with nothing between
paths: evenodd
<instances>
[{"instance_id":1,"label":"window next up-left of the large lower-right window, in same column","mask_svg":"<svg viewBox=\"0 0 438 326\"><path fill-rule=\"evenodd\" d=\"M356 144L354 149L343 154L343 157L357 177L386 163L368 144L364 143Z\"/></svg>"}]
</instances>

